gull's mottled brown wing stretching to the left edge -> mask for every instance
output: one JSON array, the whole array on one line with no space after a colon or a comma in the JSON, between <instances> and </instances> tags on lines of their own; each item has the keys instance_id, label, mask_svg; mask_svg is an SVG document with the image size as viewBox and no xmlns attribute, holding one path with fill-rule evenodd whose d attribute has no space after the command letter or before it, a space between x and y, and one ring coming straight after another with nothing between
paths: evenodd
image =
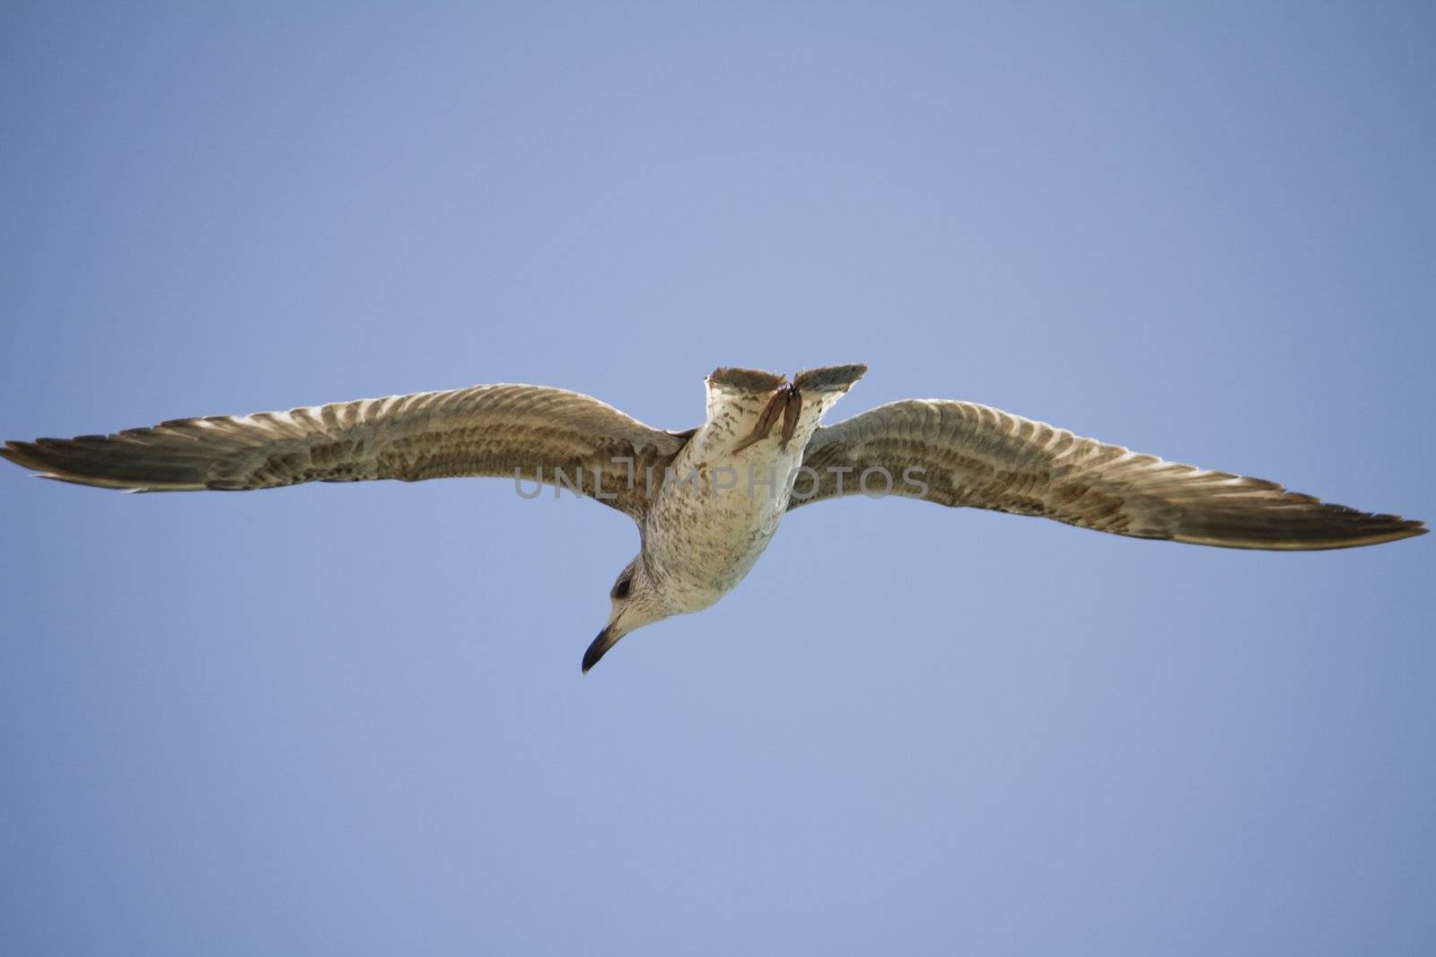
<instances>
[{"instance_id":1,"label":"gull's mottled brown wing stretching to the left edge","mask_svg":"<svg viewBox=\"0 0 1436 957\"><path fill-rule=\"evenodd\" d=\"M144 492L517 475L638 515L645 466L684 439L576 392L494 385L7 442L0 455L47 478Z\"/></svg>"}]
</instances>

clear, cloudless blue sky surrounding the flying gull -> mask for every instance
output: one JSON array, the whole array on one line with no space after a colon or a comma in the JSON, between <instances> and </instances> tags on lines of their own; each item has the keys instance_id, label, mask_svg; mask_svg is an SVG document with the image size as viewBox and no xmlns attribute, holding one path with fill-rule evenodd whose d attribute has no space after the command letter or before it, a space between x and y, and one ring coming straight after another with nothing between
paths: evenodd
<instances>
[{"instance_id":1,"label":"clear, cloudless blue sky surrounding the flying gull","mask_svg":"<svg viewBox=\"0 0 1436 957\"><path fill-rule=\"evenodd\" d=\"M718 364L1436 518L1430 4L0 13L0 435ZM1199 9L1198 9L1199 7ZM7 954L1430 954L1436 539L0 468Z\"/></svg>"}]
</instances>

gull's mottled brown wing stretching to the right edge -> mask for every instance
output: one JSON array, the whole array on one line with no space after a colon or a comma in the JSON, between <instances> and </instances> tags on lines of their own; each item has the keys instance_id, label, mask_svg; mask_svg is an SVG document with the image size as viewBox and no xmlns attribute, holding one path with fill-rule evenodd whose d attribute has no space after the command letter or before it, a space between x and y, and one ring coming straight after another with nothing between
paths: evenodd
<instances>
[{"instance_id":1,"label":"gull's mottled brown wing stretching to the right edge","mask_svg":"<svg viewBox=\"0 0 1436 957\"><path fill-rule=\"evenodd\" d=\"M817 475L797 476L790 508L859 494L862 473L882 469L869 476L869 494L883 492L890 475L896 495L1199 545L1348 548L1426 531L1422 522L1165 462L971 402L908 399L819 429L803 465Z\"/></svg>"}]
</instances>

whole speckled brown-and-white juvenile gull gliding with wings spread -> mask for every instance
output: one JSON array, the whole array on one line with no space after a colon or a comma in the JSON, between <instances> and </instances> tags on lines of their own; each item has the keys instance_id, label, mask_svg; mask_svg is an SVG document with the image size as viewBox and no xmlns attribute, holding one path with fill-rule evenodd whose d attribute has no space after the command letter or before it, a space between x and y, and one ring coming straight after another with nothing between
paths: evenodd
<instances>
[{"instance_id":1,"label":"whole speckled brown-and-white juvenile gull gliding with wings spread","mask_svg":"<svg viewBox=\"0 0 1436 957\"><path fill-rule=\"evenodd\" d=\"M457 475L580 491L632 518L640 541L584 671L625 634L718 601L787 511L840 495L895 494L1226 548L1350 548L1426 531L971 402L905 399L820 426L866 372L830 366L790 383L718 369L707 380L708 419L688 432L563 389L494 385L7 442L0 455L45 478L132 492Z\"/></svg>"}]
</instances>

